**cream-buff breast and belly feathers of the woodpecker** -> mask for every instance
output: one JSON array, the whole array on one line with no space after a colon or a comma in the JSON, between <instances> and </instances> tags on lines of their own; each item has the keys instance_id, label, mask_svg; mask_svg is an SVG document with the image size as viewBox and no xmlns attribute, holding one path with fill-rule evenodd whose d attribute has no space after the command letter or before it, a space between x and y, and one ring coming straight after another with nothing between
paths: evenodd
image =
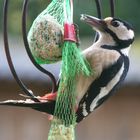
<instances>
[{"instance_id":1,"label":"cream-buff breast and belly feathers of the woodpecker","mask_svg":"<svg viewBox=\"0 0 140 140\"><path fill-rule=\"evenodd\" d=\"M81 98L87 92L89 86L96 79L99 79L102 72L108 67L110 67L111 65L113 65L114 63L116 63L119 57L121 56L120 53L115 50L107 50L102 48L94 48L94 49L92 48L92 50L90 49L85 50L83 52L83 55L90 63L90 66L93 70L93 75L90 77L79 75L77 77L77 103L79 103ZM108 90L109 87L110 84L108 85L108 87L106 87L107 88L106 90ZM103 89L104 90L102 91L105 91L105 88Z\"/></svg>"}]
</instances>

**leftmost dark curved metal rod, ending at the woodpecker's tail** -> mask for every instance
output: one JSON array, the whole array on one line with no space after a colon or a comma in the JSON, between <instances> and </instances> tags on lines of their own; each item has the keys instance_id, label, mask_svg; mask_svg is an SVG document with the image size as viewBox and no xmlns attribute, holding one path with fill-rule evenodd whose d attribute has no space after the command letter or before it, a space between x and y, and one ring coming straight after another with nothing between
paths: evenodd
<instances>
[{"instance_id":1,"label":"leftmost dark curved metal rod, ending at the woodpecker's tail","mask_svg":"<svg viewBox=\"0 0 140 140\"><path fill-rule=\"evenodd\" d=\"M33 95L33 93L31 93L28 88L25 86L25 84L19 79L15 67L13 65L12 59L11 59L11 55L10 55L10 50L9 50L9 42L8 42L8 32L7 32L7 15L8 15L8 3L9 0L5 0L4 2L4 14L3 14L3 25L4 25L4 30L3 30L3 37L4 37L4 46L5 46L5 53L6 53L6 57L7 57L7 61L9 64L9 68L17 82L17 84L20 86L20 88L24 91L24 93L31 97L31 99L35 102L39 102L38 99L35 98L35 96Z\"/></svg>"}]
</instances>

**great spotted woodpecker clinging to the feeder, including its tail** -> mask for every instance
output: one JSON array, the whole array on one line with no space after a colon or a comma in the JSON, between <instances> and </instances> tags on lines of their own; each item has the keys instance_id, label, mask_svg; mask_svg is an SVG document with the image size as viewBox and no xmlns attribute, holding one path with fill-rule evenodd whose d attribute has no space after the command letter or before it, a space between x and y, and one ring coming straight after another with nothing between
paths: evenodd
<instances>
[{"instance_id":1,"label":"great spotted woodpecker clinging to the feeder, including its tail","mask_svg":"<svg viewBox=\"0 0 140 140\"><path fill-rule=\"evenodd\" d=\"M77 76L77 123L106 101L123 82L129 69L129 50L134 41L132 26L123 20L112 17L98 19L84 14L81 20L96 30L99 38L82 52L94 75ZM53 115L56 94L36 98L40 102L8 100L0 104L31 107Z\"/></svg>"}]
</instances>

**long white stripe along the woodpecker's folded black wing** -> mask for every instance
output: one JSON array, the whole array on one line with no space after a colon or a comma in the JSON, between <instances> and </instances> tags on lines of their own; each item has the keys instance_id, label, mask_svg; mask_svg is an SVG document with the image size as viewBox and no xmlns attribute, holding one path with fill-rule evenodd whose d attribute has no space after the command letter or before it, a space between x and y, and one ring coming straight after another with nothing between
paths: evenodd
<instances>
[{"instance_id":1,"label":"long white stripe along the woodpecker's folded black wing","mask_svg":"<svg viewBox=\"0 0 140 140\"><path fill-rule=\"evenodd\" d=\"M93 100L90 106L90 111L92 112L96 106L98 105L98 101L105 97L111 90L112 88L119 82L122 74L124 71L124 64L122 65L121 69L118 71L116 76L107 84L106 87L102 87L100 90L100 94Z\"/></svg>"}]
</instances>

